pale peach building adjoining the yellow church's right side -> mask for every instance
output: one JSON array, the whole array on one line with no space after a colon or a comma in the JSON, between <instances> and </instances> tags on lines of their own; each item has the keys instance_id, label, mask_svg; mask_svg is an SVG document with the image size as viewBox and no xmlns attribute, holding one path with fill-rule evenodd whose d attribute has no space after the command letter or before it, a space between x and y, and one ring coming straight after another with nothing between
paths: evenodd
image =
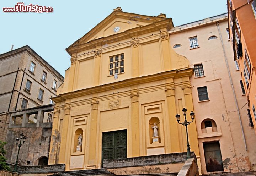
<instances>
[{"instance_id":1,"label":"pale peach building adjoining the yellow church's right side","mask_svg":"<svg viewBox=\"0 0 256 176\"><path fill-rule=\"evenodd\" d=\"M233 59L227 16L169 31L171 47L194 68L190 81L202 174L256 169L256 136L239 67Z\"/></svg>"}]
</instances>

